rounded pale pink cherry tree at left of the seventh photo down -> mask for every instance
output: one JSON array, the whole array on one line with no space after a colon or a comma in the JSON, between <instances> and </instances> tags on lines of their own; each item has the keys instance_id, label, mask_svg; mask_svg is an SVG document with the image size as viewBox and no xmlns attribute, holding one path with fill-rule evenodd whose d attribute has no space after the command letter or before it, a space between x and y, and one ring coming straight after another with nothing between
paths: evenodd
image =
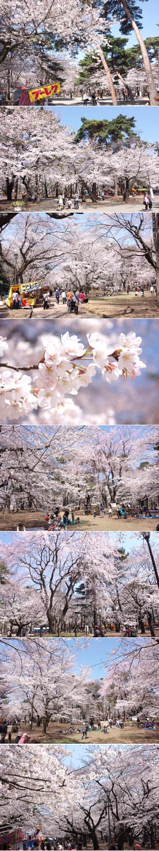
<instances>
[{"instance_id":1,"label":"rounded pale pink cherry tree at left of the seventh photo down","mask_svg":"<svg viewBox=\"0 0 159 851\"><path fill-rule=\"evenodd\" d=\"M23 720L24 714L30 721L42 721L43 733L46 734L49 721L59 717L71 718L83 710L86 705L88 668L81 668L76 674L76 656L69 646L54 639L42 639L39 643L25 639L24 654L17 656L11 643L5 644L5 662L3 671L5 677L6 665L10 674L8 703L3 706L5 716L10 712ZM14 693L14 705L13 694ZM11 692L11 705L10 693Z\"/></svg>"}]
</instances>

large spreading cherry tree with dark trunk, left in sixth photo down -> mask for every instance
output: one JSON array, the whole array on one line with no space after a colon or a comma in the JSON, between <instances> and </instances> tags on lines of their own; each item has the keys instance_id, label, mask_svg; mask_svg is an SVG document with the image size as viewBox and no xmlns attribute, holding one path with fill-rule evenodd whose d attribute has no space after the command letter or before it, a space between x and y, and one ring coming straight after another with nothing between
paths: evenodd
<instances>
[{"instance_id":1,"label":"large spreading cherry tree with dark trunk, left in sixth photo down","mask_svg":"<svg viewBox=\"0 0 159 851\"><path fill-rule=\"evenodd\" d=\"M14 545L14 546L13 546ZM3 552L3 546L0 549ZM100 533L98 547L94 533L63 532L15 535L5 546L11 576L1 593L2 618L21 635L32 622L48 624L49 632L65 626L70 603L76 598L79 582L104 586L116 573L117 545L107 533ZM14 578L13 578L14 576ZM95 598L94 598L95 604ZM43 620L42 620L43 619Z\"/></svg>"}]
</instances>

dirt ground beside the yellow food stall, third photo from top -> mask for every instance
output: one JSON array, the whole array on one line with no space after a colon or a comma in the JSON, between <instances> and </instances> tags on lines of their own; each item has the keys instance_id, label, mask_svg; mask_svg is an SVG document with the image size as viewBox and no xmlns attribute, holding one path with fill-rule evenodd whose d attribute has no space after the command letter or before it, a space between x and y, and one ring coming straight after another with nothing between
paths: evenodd
<instances>
[{"instance_id":1,"label":"dirt ground beside the yellow food stall, third photo from top","mask_svg":"<svg viewBox=\"0 0 159 851\"><path fill-rule=\"evenodd\" d=\"M10 310L6 305L0 305L0 317L3 319L22 319L25 317L30 317L30 310L25 310L22 308L19 311ZM110 317L112 319L118 317L133 317L135 319L139 319L140 317L144 318L156 318L159 317L159 307L156 305L156 296L151 296L151 293L145 292L144 298L141 296L135 296L134 293L127 294L117 294L113 296L96 296L95 294L89 295L89 302L87 305L79 305L79 317L102 317L107 318ZM68 317L68 321L71 322L72 317L74 317L74 313L69 317L68 307L67 305L63 305L62 299L60 299L59 305L56 304L55 298L52 296L50 299L50 307L48 311L43 310L42 302L39 301L39 304L34 307L32 311L32 317L35 319L48 318L48 319L62 319L63 317Z\"/></svg>"}]
</instances>

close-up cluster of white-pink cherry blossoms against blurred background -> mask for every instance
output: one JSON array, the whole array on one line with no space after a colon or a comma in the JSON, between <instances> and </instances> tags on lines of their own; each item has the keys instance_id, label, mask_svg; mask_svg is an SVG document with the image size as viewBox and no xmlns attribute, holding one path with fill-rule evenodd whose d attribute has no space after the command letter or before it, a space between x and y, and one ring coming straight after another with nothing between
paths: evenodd
<instances>
[{"instance_id":1,"label":"close-up cluster of white-pink cherry blossoms against blurred background","mask_svg":"<svg viewBox=\"0 0 159 851\"><path fill-rule=\"evenodd\" d=\"M70 404L68 394L76 396L80 386L87 387L97 369L108 383L119 378L134 380L140 375L140 368L145 368L140 360L140 343L141 337L134 332L116 337L112 332L109 338L98 332L87 334L85 346L69 331L61 337L44 334L29 363L30 344L19 344L18 355L23 364L19 369L9 363L8 341L1 337L1 357L5 360L0 369L1 419L17 420L38 407L63 414Z\"/></svg>"}]
</instances>

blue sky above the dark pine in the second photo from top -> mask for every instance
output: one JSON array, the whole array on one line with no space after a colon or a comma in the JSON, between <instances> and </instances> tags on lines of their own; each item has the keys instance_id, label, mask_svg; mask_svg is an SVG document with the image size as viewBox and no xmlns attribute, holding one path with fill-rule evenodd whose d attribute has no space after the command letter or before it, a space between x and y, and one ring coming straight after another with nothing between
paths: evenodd
<instances>
[{"instance_id":1,"label":"blue sky above the dark pine in the second photo from top","mask_svg":"<svg viewBox=\"0 0 159 851\"><path fill-rule=\"evenodd\" d=\"M79 129L82 117L96 118L98 121L107 118L108 121L112 121L112 118L116 118L117 115L126 115L134 117L136 130L140 133L141 139L154 142L159 138L159 110L156 106L151 106L149 110L144 106L78 106L75 108L51 106L49 108L56 113L57 117L60 117L60 123L73 132Z\"/></svg>"}]
</instances>

